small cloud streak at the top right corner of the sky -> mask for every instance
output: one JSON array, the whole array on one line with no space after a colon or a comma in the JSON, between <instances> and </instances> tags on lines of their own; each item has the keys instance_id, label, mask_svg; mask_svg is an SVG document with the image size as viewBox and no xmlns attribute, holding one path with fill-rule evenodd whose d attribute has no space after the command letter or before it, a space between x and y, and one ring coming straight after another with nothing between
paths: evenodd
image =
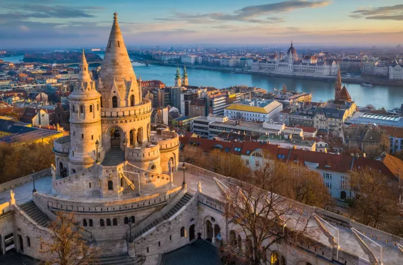
<instances>
[{"instance_id":1,"label":"small cloud streak at the top right corner of the sky","mask_svg":"<svg viewBox=\"0 0 403 265\"><path fill-rule=\"evenodd\" d=\"M403 4L381 6L379 8L361 8L351 12L355 19L403 20Z\"/></svg>"}]
</instances>

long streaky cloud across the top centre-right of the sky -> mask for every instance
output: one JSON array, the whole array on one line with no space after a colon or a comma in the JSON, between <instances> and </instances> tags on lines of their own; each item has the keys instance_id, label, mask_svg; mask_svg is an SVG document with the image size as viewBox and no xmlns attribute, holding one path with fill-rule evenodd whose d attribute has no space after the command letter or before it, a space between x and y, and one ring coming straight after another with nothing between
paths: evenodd
<instances>
[{"instance_id":1,"label":"long streaky cloud across the top centre-right of the sky","mask_svg":"<svg viewBox=\"0 0 403 265\"><path fill-rule=\"evenodd\" d=\"M218 21L242 21L250 23L273 23L283 22L284 19L279 17L266 17L269 14L277 14L280 12L290 12L301 8L321 8L328 6L329 0L308 1L308 0L290 0L277 3L267 3L259 6L246 6L234 11L232 14L214 12L207 14L185 14L173 12L172 17L160 18L161 21L187 21L188 23L217 23Z\"/></svg>"}]
</instances>

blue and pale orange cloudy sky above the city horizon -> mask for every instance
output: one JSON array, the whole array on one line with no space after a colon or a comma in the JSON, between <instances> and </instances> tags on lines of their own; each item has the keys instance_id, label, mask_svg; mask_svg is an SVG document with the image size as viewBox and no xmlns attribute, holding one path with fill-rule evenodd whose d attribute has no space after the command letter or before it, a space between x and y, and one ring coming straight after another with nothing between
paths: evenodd
<instances>
[{"instance_id":1,"label":"blue and pale orange cloudy sky above the city horizon","mask_svg":"<svg viewBox=\"0 0 403 265\"><path fill-rule=\"evenodd\" d=\"M2 48L403 45L402 0L0 0Z\"/></svg>"}]
</instances>

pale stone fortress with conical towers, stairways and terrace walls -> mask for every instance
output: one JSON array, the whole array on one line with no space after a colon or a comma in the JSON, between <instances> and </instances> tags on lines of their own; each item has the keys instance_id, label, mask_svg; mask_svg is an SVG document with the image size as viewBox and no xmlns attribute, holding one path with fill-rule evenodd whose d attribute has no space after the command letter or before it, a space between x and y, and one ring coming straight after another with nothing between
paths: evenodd
<instances>
[{"instance_id":1,"label":"pale stone fortress with conical towers, stairways and terrace walls","mask_svg":"<svg viewBox=\"0 0 403 265\"><path fill-rule=\"evenodd\" d=\"M33 182L32 193L31 176L1 186L8 194L0 204L1 253L15 248L50 260L55 253L44 251L40 239L53 240L48 226L59 212L74 213L88 244L102 250L100 264L189 262L189 246L200 242L212 248L203 260L225 244L248 248L250 233L225 214L223 197L236 179L179 163L179 135L151 124L151 101L142 98L118 14L97 81L88 74L84 52L79 68L69 96L71 134L55 139L55 166L41 173L37 188ZM186 78L178 75L176 85ZM262 157L262 150L253 152ZM401 264L402 238L321 208L297 202L287 207L303 218L316 217L309 221L316 244L281 240L267 250L264 264ZM368 243L369 235L376 245Z\"/></svg>"}]
</instances>

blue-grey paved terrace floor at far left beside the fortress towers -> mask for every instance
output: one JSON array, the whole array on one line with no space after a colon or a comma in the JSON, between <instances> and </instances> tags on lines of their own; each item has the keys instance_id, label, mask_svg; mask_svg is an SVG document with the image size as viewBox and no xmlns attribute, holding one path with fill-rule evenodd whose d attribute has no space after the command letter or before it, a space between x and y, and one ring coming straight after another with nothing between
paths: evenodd
<instances>
[{"instance_id":1,"label":"blue-grey paved terrace floor at far left beside the fortress towers","mask_svg":"<svg viewBox=\"0 0 403 265\"><path fill-rule=\"evenodd\" d=\"M52 190L52 177L41 177L40 179L35 180L35 188L38 192L50 192ZM10 201L10 190L12 190L15 194L15 201L17 204L24 204L24 202L29 202L32 200L32 189L33 184L32 181L22 184L21 186L4 190L0 193L0 204L4 202Z\"/></svg>"}]
</instances>

